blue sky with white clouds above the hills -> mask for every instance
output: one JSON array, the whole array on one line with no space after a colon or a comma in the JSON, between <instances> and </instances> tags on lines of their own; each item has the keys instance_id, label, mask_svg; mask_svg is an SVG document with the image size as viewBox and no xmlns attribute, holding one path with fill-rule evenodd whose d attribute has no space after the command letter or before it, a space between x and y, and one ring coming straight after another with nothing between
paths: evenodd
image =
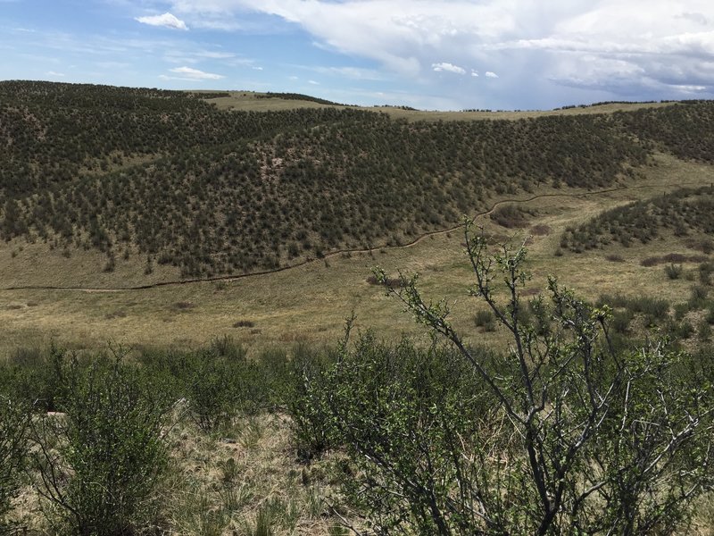
<instances>
[{"instance_id":1,"label":"blue sky with white clouds above the hills","mask_svg":"<svg viewBox=\"0 0 714 536\"><path fill-rule=\"evenodd\" d=\"M714 1L0 0L0 80L425 110L714 98Z\"/></svg>"}]
</instances>

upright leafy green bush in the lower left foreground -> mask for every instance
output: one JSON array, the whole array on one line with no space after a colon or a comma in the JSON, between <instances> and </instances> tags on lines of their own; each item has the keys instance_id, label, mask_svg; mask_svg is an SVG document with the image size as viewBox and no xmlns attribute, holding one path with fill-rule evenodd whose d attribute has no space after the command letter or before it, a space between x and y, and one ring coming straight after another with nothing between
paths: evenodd
<instances>
[{"instance_id":1,"label":"upright leafy green bush in the lower left foreground","mask_svg":"<svg viewBox=\"0 0 714 536\"><path fill-rule=\"evenodd\" d=\"M33 426L37 490L56 530L118 535L145 528L167 463L164 389L121 356L62 356L61 413Z\"/></svg>"}]
</instances>

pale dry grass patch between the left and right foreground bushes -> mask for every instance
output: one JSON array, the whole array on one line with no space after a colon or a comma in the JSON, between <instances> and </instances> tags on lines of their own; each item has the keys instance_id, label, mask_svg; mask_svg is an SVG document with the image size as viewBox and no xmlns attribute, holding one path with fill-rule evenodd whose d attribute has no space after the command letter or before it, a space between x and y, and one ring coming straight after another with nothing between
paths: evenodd
<instances>
[{"instance_id":1,"label":"pale dry grass patch between the left and right foreground bushes","mask_svg":"<svg viewBox=\"0 0 714 536\"><path fill-rule=\"evenodd\" d=\"M321 535L337 524L329 459L297 464L286 417L244 418L217 437L185 425L170 443L162 517L172 534L256 534L265 523L276 536Z\"/></svg>"}]
</instances>

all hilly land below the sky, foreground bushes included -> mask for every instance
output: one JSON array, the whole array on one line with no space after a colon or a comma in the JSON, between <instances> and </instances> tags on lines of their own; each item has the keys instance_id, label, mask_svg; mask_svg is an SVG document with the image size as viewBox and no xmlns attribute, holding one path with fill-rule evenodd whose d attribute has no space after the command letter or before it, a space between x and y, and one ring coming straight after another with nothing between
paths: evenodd
<instances>
[{"instance_id":1,"label":"all hilly land below the sky, foreground bushes included","mask_svg":"<svg viewBox=\"0 0 714 536\"><path fill-rule=\"evenodd\" d=\"M713 116L0 82L0 532L710 533Z\"/></svg>"}]
</instances>

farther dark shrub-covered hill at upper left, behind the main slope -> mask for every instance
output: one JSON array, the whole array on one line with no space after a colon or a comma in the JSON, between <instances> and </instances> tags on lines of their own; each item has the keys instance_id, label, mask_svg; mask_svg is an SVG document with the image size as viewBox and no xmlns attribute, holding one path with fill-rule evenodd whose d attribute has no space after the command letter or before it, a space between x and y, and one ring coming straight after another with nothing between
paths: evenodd
<instances>
[{"instance_id":1,"label":"farther dark shrub-covered hill at upper left, behind the main slope","mask_svg":"<svg viewBox=\"0 0 714 536\"><path fill-rule=\"evenodd\" d=\"M202 98L157 89L47 82L0 83L0 188L33 194L137 156L178 155L260 138L309 116L219 113ZM310 121L301 123L301 121Z\"/></svg>"}]
</instances>

